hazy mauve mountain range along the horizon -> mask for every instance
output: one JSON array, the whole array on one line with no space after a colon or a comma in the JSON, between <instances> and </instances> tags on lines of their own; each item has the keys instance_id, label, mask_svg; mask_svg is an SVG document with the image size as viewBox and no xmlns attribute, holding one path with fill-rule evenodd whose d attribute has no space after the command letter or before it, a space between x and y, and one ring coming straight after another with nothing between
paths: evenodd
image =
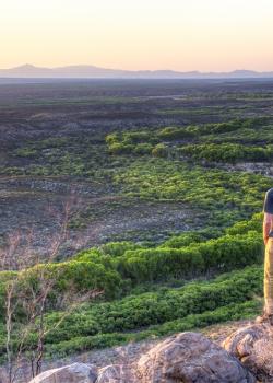
<instances>
[{"instance_id":1,"label":"hazy mauve mountain range along the horizon","mask_svg":"<svg viewBox=\"0 0 273 383\"><path fill-rule=\"evenodd\" d=\"M94 66L69 66L40 68L23 65L11 69L0 69L0 78L76 78L76 79L256 79L273 78L273 71L235 70L232 72L179 72L174 70L121 70Z\"/></svg>"}]
</instances>

